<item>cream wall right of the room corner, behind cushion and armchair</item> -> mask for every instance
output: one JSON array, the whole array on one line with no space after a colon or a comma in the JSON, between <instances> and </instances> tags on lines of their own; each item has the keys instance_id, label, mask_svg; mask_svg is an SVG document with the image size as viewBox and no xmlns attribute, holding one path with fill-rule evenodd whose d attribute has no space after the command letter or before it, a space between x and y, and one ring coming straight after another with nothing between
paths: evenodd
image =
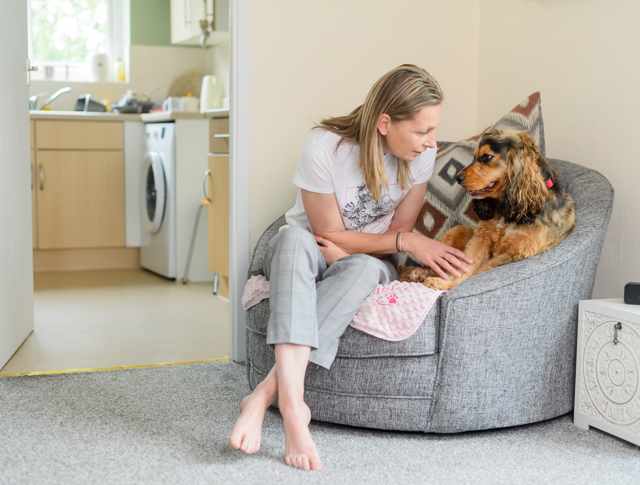
<instances>
[{"instance_id":1,"label":"cream wall right of the room corner, behind cushion and armchair","mask_svg":"<svg viewBox=\"0 0 640 485\"><path fill-rule=\"evenodd\" d=\"M594 298L640 281L640 2L482 0L477 127L541 91L547 155L616 191ZM594 194L595 195L595 194Z\"/></svg>"}]
</instances>

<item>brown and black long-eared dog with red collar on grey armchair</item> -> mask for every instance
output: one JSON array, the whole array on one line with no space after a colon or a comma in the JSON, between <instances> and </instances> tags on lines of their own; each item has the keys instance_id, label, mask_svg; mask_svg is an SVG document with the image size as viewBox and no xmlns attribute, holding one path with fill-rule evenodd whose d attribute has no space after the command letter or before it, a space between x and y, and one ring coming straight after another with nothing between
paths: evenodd
<instances>
[{"instance_id":1,"label":"brown and black long-eared dog with red collar on grey armchair","mask_svg":"<svg viewBox=\"0 0 640 485\"><path fill-rule=\"evenodd\" d=\"M573 198L525 131L486 133L456 181L474 199L477 229L456 226L440 241L464 251L469 273L443 279L430 268L398 267L400 281L450 290L467 278L557 246L576 227Z\"/></svg>"}]
</instances>

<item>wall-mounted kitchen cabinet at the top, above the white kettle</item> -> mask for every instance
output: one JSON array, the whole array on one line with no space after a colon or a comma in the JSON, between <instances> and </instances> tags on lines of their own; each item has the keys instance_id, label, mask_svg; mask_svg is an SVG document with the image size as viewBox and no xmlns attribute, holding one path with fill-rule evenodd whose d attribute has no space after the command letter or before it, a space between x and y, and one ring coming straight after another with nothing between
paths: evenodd
<instances>
[{"instance_id":1,"label":"wall-mounted kitchen cabinet at the top, above the white kettle","mask_svg":"<svg viewBox=\"0 0 640 485\"><path fill-rule=\"evenodd\" d=\"M171 0L171 43L199 45L202 28L200 21L211 21L215 4L215 30L210 33L207 45L228 40L229 38L229 0Z\"/></svg>"}]
</instances>

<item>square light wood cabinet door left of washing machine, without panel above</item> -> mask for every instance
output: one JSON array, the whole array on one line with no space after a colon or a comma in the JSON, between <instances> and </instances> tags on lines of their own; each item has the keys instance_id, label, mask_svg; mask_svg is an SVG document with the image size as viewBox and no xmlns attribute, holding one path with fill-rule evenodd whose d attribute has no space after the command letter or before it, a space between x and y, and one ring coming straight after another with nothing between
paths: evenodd
<instances>
[{"instance_id":1,"label":"square light wood cabinet door left of washing machine, without panel above","mask_svg":"<svg viewBox=\"0 0 640 485\"><path fill-rule=\"evenodd\" d=\"M38 151L38 248L123 247L121 151Z\"/></svg>"}]
</instances>

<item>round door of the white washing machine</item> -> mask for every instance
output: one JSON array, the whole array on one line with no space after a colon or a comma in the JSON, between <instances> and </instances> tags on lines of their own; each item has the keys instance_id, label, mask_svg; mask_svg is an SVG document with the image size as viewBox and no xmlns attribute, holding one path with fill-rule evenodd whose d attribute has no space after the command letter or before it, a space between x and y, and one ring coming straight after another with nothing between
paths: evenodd
<instances>
[{"instance_id":1,"label":"round door of the white washing machine","mask_svg":"<svg viewBox=\"0 0 640 485\"><path fill-rule=\"evenodd\" d=\"M142 227L157 234L162 227L167 206L167 181L160 154L149 151L142 162Z\"/></svg>"}]
</instances>

